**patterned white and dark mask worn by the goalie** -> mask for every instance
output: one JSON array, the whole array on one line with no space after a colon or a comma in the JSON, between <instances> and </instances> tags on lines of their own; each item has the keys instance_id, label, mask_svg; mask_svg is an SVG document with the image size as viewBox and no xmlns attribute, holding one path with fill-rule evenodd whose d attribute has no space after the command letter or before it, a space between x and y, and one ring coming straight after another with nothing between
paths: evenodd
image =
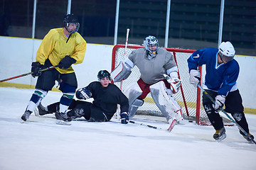
<instances>
[{"instance_id":1,"label":"patterned white and dark mask worn by the goalie","mask_svg":"<svg viewBox=\"0 0 256 170\"><path fill-rule=\"evenodd\" d=\"M159 48L159 42L154 36L149 35L148 37L146 37L143 45L146 48L146 51L149 52L149 55L151 55L151 57L156 57L156 53Z\"/></svg>"}]
</instances>

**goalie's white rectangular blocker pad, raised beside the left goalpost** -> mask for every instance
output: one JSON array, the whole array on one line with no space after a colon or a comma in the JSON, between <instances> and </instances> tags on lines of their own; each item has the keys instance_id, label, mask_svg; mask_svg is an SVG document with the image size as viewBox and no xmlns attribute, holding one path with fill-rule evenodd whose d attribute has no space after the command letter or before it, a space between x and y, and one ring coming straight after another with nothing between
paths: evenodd
<instances>
[{"instance_id":1,"label":"goalie's white rectangular blocker pad, raised beside the left goalpost","mask_svg":"<svg viewBox=\"0 0 256 170\"><path fill-rule=\"evenodd\" d=\"M120 62L110 75L114 82L120 82L123 79L127 79L131 73L131 68L125 62Z\"/></svg>"}]
</instances>

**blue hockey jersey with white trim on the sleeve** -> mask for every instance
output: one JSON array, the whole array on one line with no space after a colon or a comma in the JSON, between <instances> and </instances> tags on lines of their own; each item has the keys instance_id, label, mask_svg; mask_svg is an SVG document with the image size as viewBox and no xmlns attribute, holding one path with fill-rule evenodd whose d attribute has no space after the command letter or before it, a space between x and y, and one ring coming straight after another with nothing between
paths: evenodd
<instances>
[{"instance_id":1,"label":"blue hockey jersey with white trim on the sleeve","mask_svg":"<svg viewBox=\"0 0 256 170\"><path fill-rule=\"evenodd\" d=\"M227 96L236 84L239 74L239 64L236 60L218 64L218 49L209 47L193 52L188 58L188 69L198 69L206 64L205 85L208 89L218 91L219 95Z\"/></svg>"}]
</instances>

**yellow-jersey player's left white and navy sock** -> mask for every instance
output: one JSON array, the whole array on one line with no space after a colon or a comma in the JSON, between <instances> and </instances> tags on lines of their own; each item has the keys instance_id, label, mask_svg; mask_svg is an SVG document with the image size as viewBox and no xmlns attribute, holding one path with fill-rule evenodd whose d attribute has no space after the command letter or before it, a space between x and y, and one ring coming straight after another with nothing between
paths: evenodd
<instances>
[{"instance_id":1,"label":"yellow-jersey player's left white and navy sock","mask_svg":"<svg viewBox=\"0 0 256 170\"><path fill-rule=\"evenodd\" d=\"M47 91L44 91L42 89L36 89L32 94L30 101L28 102L28 106L26 110L33 112L36 109L36 107L39 105L39 103L41 103L43 98L45 98L46 94L47 94Z\"/></svg>"}]
</instances>

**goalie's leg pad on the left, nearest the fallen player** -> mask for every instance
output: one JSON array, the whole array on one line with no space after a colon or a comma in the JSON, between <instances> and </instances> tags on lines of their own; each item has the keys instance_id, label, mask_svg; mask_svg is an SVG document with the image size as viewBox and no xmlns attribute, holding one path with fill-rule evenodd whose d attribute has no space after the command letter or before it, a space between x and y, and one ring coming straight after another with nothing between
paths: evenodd
<instances>
[{"instance_id":1,"label":"goalie's leg pad on the left, nearest the fallen player","mask_svg":"<svg viewBox=\"0 0 256 170\"><path fill-rule=\"evenodd\" d=\"M142 94L142 89L140 89L139 84L137 82L134 82L132 84L129 84L124 89L124 95L127 96L129 100L129 117L132 118L134 114L136 113L139 106L142 106L143 100L138 99L138 97Z\"/></svg>"}]
</instances>

